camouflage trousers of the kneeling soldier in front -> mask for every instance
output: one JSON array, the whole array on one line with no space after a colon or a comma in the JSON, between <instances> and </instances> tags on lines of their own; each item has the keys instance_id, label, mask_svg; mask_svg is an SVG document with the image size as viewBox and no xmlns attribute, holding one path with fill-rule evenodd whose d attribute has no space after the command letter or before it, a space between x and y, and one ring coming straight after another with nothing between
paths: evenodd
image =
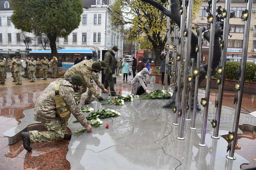
<instances>
[{"instance_id":1,"label":"camouflage trousers of the kneeling soldier in front","mask_svg":"<svg viewBox=\"0 0 256 170\"><path fill-rule=\"evenodd\" d=\"M66 133L68 120L56 120L43 124L48 131L29 131L31 142L51 142L55 140L62 140Z\"/></svg>"}]
</instances>

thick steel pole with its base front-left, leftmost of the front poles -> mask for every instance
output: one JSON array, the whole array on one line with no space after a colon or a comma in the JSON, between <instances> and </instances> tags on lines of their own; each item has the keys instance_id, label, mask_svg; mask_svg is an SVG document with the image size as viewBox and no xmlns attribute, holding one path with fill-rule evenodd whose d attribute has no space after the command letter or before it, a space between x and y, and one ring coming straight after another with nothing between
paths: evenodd
<instances>
[{"instance_id":1,"label":"thick steel pole with its base front-left, leftmost of the front poles","mask_svg":"<svg viewBox=\"0 0 256 170\"><path fill-rule=\"evenodd\" d=\"M184 2L185 0L183 0ZM185 6L185 5L184 5ZM190 48L191 48L191 28L192 28L192 10L193 10L193 0L189 0L188 2L188 11L187 11L187 44L186 44L186 51L184 55L184 72L183 72L183 89L182 89L182 99L181 99L181 117L180 117L180 128L177 139L184 140L184 121L185 121L185 114L187 108L187 86L188 86L188 67L190 61ZM183 11L186 13L185 11ZM181 30L182 32L182 30Z\"/></svg>"}]
</instances>

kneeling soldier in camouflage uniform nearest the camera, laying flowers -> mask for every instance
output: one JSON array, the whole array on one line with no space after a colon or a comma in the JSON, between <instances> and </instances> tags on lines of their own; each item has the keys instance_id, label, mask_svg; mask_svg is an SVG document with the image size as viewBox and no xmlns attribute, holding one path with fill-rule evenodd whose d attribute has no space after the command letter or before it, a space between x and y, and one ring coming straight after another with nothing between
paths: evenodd
<instances>
[{"instance_id":1,"label":"kneeling soldier in camouflage uniform nearest the camera, laying flowers","mask_svg":"<svg viewBox=\"0 0 256 170\"><path fill-rule=\"evenodd\" d=\"M92 126L84 117L84 114L77 105L75 98L75 91L83 84L83 77L80 74L75 74L68 79L60 78L50 83L44 92L41 93L35 105L34 119L42 122L48 131L21 132L23 146L27 151L32 150L30 143L50 142L71 138L71 135L66 134L68 119L61 120L56 111L54 96L56 87L59 83L60 88L58 92L70 112L76 117L76 120L86 128L87 131L92 131Z\"/></svg>"}]
</instances>

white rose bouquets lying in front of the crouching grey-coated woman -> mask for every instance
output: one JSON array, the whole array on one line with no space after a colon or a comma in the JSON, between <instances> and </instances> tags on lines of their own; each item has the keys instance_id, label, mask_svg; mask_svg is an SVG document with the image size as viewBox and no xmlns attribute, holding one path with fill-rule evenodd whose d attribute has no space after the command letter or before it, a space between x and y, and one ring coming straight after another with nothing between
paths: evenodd
<instances>
[{"instance_id":1,"label":"white rose bouquets lying in front of the crouching grey-coated woman","mask_svg":"<svg viewBox=\"0 0 256 170\"><path fill-rule=\"evenodd\" d=\"M145 94L143 96L140 96L140 99L170 99L172 97L171 92L167 92L165 90L157 89L155 91L152 91L149 94Z\"/></svg>"}]
</instances>

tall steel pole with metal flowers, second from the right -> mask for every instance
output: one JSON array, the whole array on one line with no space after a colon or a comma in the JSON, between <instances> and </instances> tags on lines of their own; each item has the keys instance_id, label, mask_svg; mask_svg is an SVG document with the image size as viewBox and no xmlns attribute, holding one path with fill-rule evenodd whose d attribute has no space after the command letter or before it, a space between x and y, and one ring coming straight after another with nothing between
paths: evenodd
<instances>
[{"instance_id":1,"label":"tall steel pole with metal flowers, second from the right","mask_svg":"<svg viewBox=\"0 0 256 170\"><path fill-rule=\"evenodd\" d=\"M228 32L229 32L229 17L230 17L230 3L231 0L226 0L225 2L225 9L226 11L226 18L224 18L224 28L223 28L223 49L221 54L221 76L220 76L220 84L219 84L219 91L218 91L218 99L217 99L217 109L215 114L216 120L216 127L213 130L212 138L219 139L219 127L220 127L220 114L221 114L221 107L222 107L222 97L223 97L223 85L225 80L225 66L227 60L227 49L228 49Z\"/></svg>"}]
</instances>

